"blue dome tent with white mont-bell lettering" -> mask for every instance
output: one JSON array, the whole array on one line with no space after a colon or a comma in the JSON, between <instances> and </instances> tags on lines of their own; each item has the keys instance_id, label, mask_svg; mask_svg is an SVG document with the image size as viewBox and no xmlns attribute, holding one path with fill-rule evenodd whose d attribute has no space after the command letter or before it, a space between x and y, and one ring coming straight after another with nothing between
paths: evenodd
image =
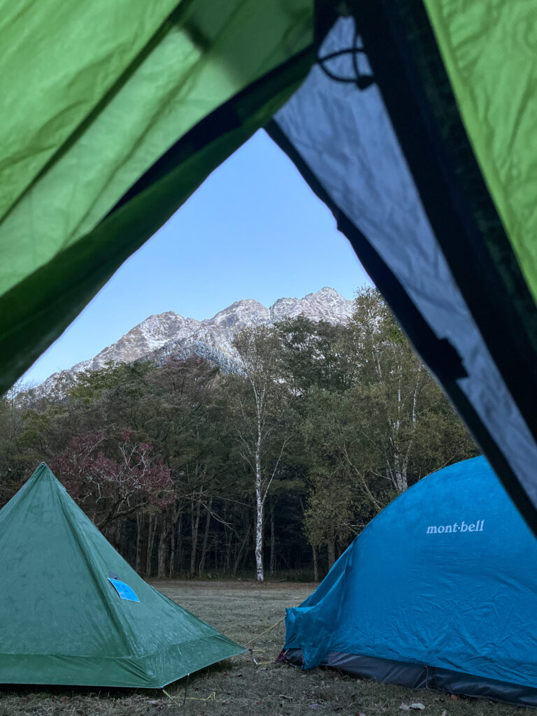
<instances>
[{"instance_id":1,"label":"blue dome tent with white mont-bell lettering","mask_svg":"<svg viewBox=\"0 0 537 716\"><path fill-rule=\"evenodd\" d=\"M537 705L537 541L483 457L402 493L286 611L306 669Z\"/></svg>"}]
</instances>

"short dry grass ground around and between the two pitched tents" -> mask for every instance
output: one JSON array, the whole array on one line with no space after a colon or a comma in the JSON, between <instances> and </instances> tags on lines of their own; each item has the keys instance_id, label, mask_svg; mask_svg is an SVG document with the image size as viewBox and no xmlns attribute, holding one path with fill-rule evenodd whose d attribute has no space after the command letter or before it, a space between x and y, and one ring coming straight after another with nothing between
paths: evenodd
<instances>
[{"instance_id":1,"label":"short dry grass ground around and between the two pitched tents","mask_svg":"<svg viewBox=\"0 0 537 716\"><path fill-rule=\"evenodd\" d=\"M155 586L223 634L251 648L162 691L0 690L0 716L403 716L421 704L425 716L521 716L519 707L410 691L334 670L274 664L284 642L277 624L286 606L303 601L312 584L158 582ZM277 624L277 626L274 626ZM273 627L269 629L269 627ZM268 631L266 631L268 629ZM263 634L263 632L265 632Z\"/></svg>"}]
</instances>

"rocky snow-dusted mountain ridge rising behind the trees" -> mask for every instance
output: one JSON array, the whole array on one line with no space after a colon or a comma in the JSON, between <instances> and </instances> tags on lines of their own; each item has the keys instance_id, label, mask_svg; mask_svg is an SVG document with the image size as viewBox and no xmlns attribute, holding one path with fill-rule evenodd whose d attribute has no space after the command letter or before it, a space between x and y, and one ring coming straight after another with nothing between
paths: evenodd
<instances>
[{"instance_id":1,"label":"rocky snow-dusted mountain ridge rising behind the trees","mask_svg":"<svg viewBox=\"0 0 537 716\"><path fill-rule=\"evenodd\" d=\"M284 318L304 315L313 321L342 323L352 314L352 301L347 301L334 289L324 288L302 299L282 298L269 308L244 299L219 311L211 319L197 321L183 318L173 311L149 316L94 358L73 366L68 371L52 374L42 384L44 393L58 382L73 378L84 370L97 370L106 364L130 363L155 354L184 356L197 353L222 363L233 361L233 337L241 329L258 324L273 324Z\"/></svg>"}]
</instances>

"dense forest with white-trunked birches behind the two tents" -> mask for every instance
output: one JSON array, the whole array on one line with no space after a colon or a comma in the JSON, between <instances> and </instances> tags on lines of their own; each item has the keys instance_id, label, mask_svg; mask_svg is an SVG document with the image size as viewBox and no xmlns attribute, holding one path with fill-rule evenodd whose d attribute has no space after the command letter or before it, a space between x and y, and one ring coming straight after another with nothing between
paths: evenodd
<instances>
[{"instance_id":1,"label":"dense forest with white-trunked birches behind the two tents","mask_svg":"<svg viewBox=\"0 0 537 716\"><path fill-rule=\"evenodd\" d=\"M0 399L0 506L44 460L145 577L319 580L391 500L478 454L375 289L195 354Z\"/></svg>"}]
</instances>

